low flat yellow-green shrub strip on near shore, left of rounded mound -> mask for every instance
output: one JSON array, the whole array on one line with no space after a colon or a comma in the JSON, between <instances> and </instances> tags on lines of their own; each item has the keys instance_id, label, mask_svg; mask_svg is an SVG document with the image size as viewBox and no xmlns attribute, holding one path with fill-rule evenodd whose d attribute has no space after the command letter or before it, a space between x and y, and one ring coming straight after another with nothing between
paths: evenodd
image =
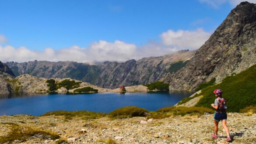
<instances>
[{"instance_id":1,"label":"low flat yellow-green shrub strip on near shore, left of rounded mound","mask_svg":"<svg viewBox=\"0 0 256 144\"><path fill-rule=\"evenodd\" d=\"M45 113L42 116L51 116L51 115L65 116L65 118L69 120L73 119L74 117L81 117L82 119L88 120L88 119L98 119L100 117L104 117L106 113L88 112L86 110L74 111L74 112L59 110L59 111Z\"/></svg>"}]
</instances>

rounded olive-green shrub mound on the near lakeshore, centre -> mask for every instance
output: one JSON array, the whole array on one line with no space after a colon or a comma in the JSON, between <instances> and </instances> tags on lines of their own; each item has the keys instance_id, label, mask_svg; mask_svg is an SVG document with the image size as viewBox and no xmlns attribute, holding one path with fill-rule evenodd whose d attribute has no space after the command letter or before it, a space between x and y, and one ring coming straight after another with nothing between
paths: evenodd
<instances>
[{"instance_id":1,"label":"rounded olive-green shrub mound on the near lakeshore, centre","mask_svg":"<svg viewBox=\"0 0 256 144\"><path fill-rule=\"evenodd\" d=\"M149 113L146 109L137 106L125 106L109 113L112 118L145 117Z\"/></svg>"}]
</instances>

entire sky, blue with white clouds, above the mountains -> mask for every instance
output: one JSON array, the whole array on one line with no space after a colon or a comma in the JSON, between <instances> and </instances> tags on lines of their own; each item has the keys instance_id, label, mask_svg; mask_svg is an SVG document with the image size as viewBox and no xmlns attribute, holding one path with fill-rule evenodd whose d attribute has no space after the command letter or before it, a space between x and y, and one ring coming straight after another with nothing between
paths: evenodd
<instances>
[{"instance_id":1,"label":"entire sky, blue with white clouds, above the mountains","mask_svg":"<svg viewBox=\"0 0 256 144\"><path fill-rule=\"evenodd\" d=\"M195 50L242 1L0 0L0 61L124 62Z\"/></svg>"}]
</instances>

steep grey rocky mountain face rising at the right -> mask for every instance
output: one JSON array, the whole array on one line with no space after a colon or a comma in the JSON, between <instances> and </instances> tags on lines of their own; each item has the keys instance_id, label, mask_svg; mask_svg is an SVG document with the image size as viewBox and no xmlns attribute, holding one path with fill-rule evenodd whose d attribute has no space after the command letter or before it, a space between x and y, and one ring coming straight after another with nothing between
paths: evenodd
<instances>
[{"instance_id":1,"label":"steep grey rocky mountain face rising at the right","mask_svg":"<svg viewBox=\"0 0 256 144\"><path fill-rule=\"evenodd\" d=\"M163 81L170 89L194 90L216 78L220 82L256 63L256 4L242 2L231 10L188 64Z\"/></svg>"}]
</instances>

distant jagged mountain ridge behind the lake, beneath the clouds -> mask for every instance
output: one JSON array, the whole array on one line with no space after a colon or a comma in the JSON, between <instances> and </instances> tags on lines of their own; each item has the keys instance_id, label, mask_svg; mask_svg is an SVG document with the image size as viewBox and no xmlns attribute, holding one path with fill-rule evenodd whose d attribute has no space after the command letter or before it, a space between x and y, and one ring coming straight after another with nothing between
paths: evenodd
<instances>
[{"instance_id":1,"label":"distant jagged mountain ridge behind the lake, beneath the clouds","mask_svg":"<svg viewBox=\"0 0 256 144\"><path fill-rule=\"evenodd\" d=\"M7 62L15 75L30 74L43 78L71 78L101 86L117 88L147 84L163 78L168 72L176 72L186 65L196 51L179 51L160 57L142 58L137 62L103 62L88 65L77 62Z\"/></svg>"}]
</instances>

